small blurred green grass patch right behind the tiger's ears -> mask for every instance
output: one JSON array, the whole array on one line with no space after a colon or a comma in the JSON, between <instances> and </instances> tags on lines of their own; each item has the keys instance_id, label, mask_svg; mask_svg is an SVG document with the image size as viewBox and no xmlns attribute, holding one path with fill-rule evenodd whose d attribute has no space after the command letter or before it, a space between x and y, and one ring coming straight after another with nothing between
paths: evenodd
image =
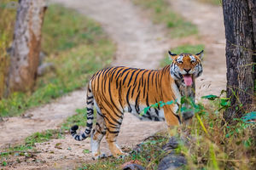
<instances>
[{"instance_id":1,"label":"small blurred green grass patch right behind the tiger's ears","mask_svg":"<svg viewBox=\"0 0 256 170\"><path fill-rule=\"evenodd\" d=\"M204 49L204 45L198 44L198 45L182 45L177 48L171 49L172 53L174 54L182 54L182 53L189 53L189 54L197 54L201 52L201 50ZM160 66L164 67L165 65L172 64L172 60L169 58L169 55L162 59L160 61Z\"/></svg>"}]
</instances>

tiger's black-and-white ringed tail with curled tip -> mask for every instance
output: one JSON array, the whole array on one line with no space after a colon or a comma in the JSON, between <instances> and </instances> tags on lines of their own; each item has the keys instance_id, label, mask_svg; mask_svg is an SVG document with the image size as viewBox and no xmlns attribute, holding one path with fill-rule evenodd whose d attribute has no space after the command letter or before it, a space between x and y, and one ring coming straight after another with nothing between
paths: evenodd
<instances>
[{"instance_id":1,"label":"tiger's black-and-white ringed tail with curled tip","mask_svg":"<svg viewBox=\"0 0 256 170\"><path fill-rule=\"evenodd\" d=\"M84 130L84 133L78 134L77 130L79 129L78 125L74 125L70 129L70 133L72 134L73 138L76 140L84 140L86 139L91 132L92 124L93 124L93 106L94 106L94 98L93 94L91 91L90 83L87 88L87 99L86 99L86 104L87 104L87 122L86 122L86 128Z\"/></svg>"}]
</instances>

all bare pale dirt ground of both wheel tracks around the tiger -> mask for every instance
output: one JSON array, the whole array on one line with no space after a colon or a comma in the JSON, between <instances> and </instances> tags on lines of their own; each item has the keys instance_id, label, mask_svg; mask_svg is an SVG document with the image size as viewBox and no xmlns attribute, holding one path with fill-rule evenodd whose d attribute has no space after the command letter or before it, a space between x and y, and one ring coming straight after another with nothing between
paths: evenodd
<instances>
[{"instance_id":1,"label":"all bare pale dirt ground of both wheel tracks around the tiger","mask_svg":"<svg viewBox=\"0 0 256 170\"><path fill-rule=\"evenodd\" d=\"M203 62L203 76L198 78L196 96L219 94L225 89L224 25L221 7L197 3L191 0L169 0L177 13L199 29L200 43L205 44L206 57ZM169 48L186 43L198 42L193 37L170 40L164 26L156 26L143 11L131 1L112 0L54 0L68 8L75 8L81 14L102 24L105 31L117 45L115 60L112 65L127 65L139 68L155 69L159 67ZM84 90L75 91L61 99L30 111L23 116L9 117L0 122L0 148L14 144L32 133L60 127L67 116L75 114L78 108L84 108ZM125 114L119 133L118 143L121 147L132 148L148 136L165 129L163 122L140 122L131 114ZM108 145L103 139L102 150L109 154ZM80 163L92 162L90 140L75 141L70 135L65 139L51 139L36 144L35 157L14 163L8 169L70 169ZM16 158L14 158L16 159ZM35 161L36 160L36 161Z\"/></svg>"}]
</instances>

